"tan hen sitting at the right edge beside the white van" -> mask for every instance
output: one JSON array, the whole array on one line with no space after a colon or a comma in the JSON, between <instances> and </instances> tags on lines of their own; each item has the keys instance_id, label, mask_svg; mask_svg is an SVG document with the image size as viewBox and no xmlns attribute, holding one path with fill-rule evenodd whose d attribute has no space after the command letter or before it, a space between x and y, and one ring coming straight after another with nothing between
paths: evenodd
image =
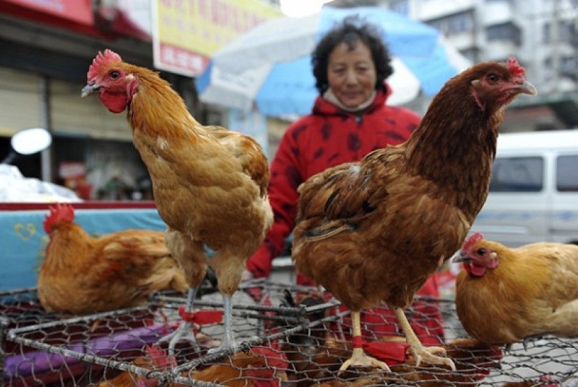
<instances>
[{"instance_id":1,"label":"tan hen sitting at the right edge beside the white van","mask_svg":"<svg viewBox=\"0 0 578 387\"><path fill-rule=\"evenodd\" d=\"M455 289L460 322L472 337L511 344L531 336L578 337L578 246L519 248L475 232L454 258L464 262Z\"/></svg>"}]
</instances>

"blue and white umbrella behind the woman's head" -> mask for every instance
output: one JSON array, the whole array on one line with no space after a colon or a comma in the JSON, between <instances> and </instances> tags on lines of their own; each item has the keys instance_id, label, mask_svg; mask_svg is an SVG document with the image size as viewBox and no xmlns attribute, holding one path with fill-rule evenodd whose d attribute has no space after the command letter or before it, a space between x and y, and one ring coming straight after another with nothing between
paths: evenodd
<instances>
[{"instance_id":1,"label":"blue and white umbrella behind the woman's head","mask_svg":"<svg viewBox=\"0 0 578 387\"><path fill-rule=\"evenodd\" d=\"M421 91L432 96L470 63L432 27L381 7L325 6L308 17L264 22L212 56L196 79L201 101L265 116L304 115L318 95L311 52L336 22L359 15L384 31L393 56L389 104L404 104Z\"/></svg>"}]
</instances>

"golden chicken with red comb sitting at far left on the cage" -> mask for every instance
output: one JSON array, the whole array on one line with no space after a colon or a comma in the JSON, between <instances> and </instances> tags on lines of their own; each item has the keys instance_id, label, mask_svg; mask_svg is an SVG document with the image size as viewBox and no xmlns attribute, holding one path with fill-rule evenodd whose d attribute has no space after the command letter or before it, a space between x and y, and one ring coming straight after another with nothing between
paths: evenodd
<instances>
[{"instance_id":1,"label":"golden chicken with red comb sitting at far left on the cage","mask_svg":"<svg viewBox=\"0 0 578 387\"><path fill-rule=\"evenodd\" d=\"M164 232L123 230L91 237L71 205L55 205L44 221L50 237L38 271L45 310L86 315L144 303L157 290L187 290Z\"/></svg>"}]
</instances>

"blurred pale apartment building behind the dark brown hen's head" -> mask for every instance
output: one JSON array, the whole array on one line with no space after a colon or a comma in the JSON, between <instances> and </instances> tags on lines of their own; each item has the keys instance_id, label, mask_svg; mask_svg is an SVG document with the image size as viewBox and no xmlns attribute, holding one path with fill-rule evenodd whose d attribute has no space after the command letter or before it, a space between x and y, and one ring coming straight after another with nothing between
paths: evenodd
<instances>
[{"instance_id":1,"label":"blurred pale apartment building behind the dark brown hen's head","mask_svg":"<svg viewBox=\"0 0 578 387\"><path fill-rule=\"evenodd\" d=\"M442 31L473 63L515 55L538 97L519 99L503 131L578 126L578 1L375 1Z\"/></svg>"}]
</instances>

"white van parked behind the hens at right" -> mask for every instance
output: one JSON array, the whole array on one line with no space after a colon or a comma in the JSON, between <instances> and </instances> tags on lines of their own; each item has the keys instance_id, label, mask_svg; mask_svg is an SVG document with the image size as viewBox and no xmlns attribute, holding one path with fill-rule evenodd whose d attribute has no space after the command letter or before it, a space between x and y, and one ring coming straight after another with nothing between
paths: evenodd
<instances>
[{"instance_id":1,"label":"white van parked behind the hens at right","mask_svg":"<svg viewBox=\"0 0 578 387\"><path fill-rule=\"evenodd\" d=\"M510 247L578 244L578 129L500 134L474 231Z\"/></svg>"}]
</instances>

